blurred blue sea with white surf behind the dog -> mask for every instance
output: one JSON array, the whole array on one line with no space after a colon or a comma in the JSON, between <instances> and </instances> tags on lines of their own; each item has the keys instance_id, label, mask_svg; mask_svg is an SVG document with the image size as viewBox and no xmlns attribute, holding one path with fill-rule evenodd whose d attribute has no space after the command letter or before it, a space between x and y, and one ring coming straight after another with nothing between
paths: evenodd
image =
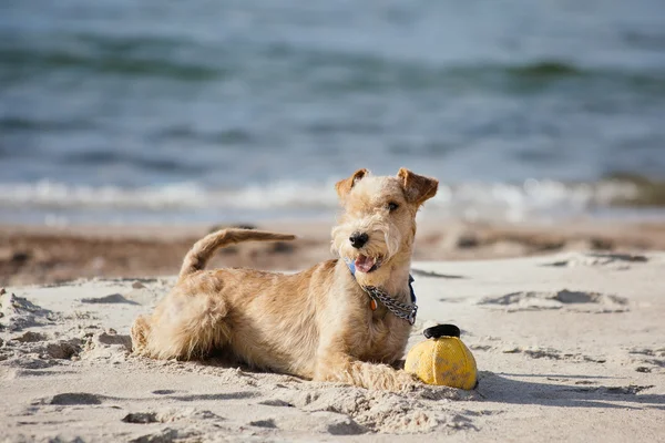
<instances>
[{"instance_id":1,"label":"blurred blue sea with white surf behind the dog","mask_svg":"<svg viewBox=\"0 0 665 443\"><path fill-rule=\"evenodd\" d=\"M665 219L661 0L7 0L0 223Z\"/></svg>"}]
</instances>

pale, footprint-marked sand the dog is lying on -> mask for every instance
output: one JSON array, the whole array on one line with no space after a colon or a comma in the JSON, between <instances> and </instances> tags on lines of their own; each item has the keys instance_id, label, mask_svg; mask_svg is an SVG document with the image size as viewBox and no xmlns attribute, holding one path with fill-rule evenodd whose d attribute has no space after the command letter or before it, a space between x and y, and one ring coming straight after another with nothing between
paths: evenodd
<instances>
[{"instance_id":1,"label":"pale, footprint-marked sand the dog is lying on","mask_svg":"<svg viewBox=\"0 0 665 443\"><path fill-rule=\"evenodd\" d=\"M417 262L413 275L411 344L433 321L458 324L475 391L129 357L132 320L172 278L7 288L0 441L665 441L665 254Z\"/></svg>"}]
</instances>

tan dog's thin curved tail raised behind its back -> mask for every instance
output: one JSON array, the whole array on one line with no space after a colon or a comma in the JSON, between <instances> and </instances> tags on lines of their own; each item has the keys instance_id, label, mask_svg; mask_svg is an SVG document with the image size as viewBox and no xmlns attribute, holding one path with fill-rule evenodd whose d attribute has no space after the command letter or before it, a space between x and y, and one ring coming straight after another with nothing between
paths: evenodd
<instances>
[{"instance_id":1,"label":"tan dog's thin curved tail raised behind its back","mask_svg":"<svg viewBox=\"0 0 665 443\"><path fill-rule=\"evenodd\" d=\"M243 241L279 241L293 240L295 238L296 236L290 234L268 233L266 230L235 228L217 230L196 241L192 249L190 249L183 260L180 278L182 279L197 270L204 269L209 258L218 248Z\"/></svg>"}]
</instances>

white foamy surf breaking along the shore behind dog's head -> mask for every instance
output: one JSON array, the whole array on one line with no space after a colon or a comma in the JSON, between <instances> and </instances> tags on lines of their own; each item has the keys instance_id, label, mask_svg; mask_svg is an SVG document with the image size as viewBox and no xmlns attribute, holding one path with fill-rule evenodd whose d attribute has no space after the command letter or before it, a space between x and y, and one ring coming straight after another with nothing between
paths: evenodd
<instances>
[{"instance_id":1,"label":"white foamy surf breaking along the shore behind dog's head","mask_svg":"<svg viewBox=\"0 0 665 443\"><path fill-rule=\"evenodd\" d=\"M72 186L41 181L0 184L0 207L22 213L102 210L225 214L255 212L299 217L328 214L338 207L334 181L325 184L277 182L237 189L211 189L194 183L122 188ZM429 216L463 219L522 220L538 216L571 216L594 208L640 202L641 187L628 181L562 183L528 179L520 184L466 183L441 185L428 202ZM665 202L662 202L665 206Z\"/></svg>"}]
</instances>

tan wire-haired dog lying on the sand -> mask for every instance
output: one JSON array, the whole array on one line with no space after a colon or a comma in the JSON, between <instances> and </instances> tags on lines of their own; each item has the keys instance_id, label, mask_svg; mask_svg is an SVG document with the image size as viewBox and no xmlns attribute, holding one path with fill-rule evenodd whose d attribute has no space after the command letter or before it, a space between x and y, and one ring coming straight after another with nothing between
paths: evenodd
<instances>
[{"instance_id":1,"label":"tan wire-haired dog lying on the sand","mask_svg":"<svg viewBox=\"0 0 665 443\"><path fill-rule=\"evenodd\" d=\"M395 177L359 169L340 181L336 189L345 212L332 229L332 249L342 259L294 275L203 270L219 247L294 236L245 229L206 236L185 257L171 293L152 316L134 322L134 352L192 359L223 350L254 368L306 379L411 389L416 379L388 364L403 356L412 316L397 317L366 289L379 288L388 305L411 310L416 213L437 188L436 179L405 168Z\"/></svg>"}]
</instances>

